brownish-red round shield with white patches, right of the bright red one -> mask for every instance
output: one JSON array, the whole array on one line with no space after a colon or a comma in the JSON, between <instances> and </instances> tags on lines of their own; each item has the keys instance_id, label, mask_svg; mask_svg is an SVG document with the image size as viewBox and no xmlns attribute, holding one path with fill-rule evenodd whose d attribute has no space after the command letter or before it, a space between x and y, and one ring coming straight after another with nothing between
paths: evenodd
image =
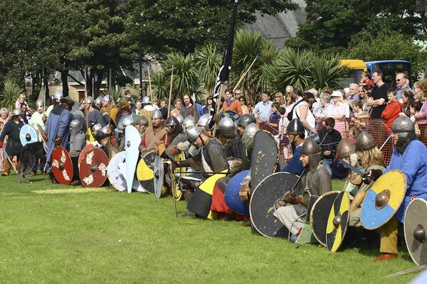
<instances>
[{"instance_id":1,"label":"brownish-red round shield with white patches, right of the bright red one","mask_svg":"<svg viewBox=\"0 0 427 284\"><path fill-rule=\"evenodd\" d=\"M85 187L100 187L107 180L107 166L107 154L100 148L93 147L83 155L78 171L80 181Z\"/></svg>"}]
</instances>

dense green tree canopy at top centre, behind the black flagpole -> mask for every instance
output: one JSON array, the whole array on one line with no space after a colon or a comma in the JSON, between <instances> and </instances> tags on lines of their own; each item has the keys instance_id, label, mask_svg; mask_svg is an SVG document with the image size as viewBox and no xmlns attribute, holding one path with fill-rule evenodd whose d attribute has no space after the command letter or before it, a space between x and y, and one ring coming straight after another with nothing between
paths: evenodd
<instances>
[{"instance_id":1,"label":"dense green tree canopy at top centre, behind the black flagpole","mask_svg":"<svg viewBox=\"0 0 427 284\"><path fill-rule=\"evenodd\" d=\"M226 43L232 0L130 0L125 9L132 48L144 53L179 50L192 53L196 46ZM255 10L266 14L296 9L290 0L238 2L238 25L253 23Z\"/></svg>"}]
</instances>

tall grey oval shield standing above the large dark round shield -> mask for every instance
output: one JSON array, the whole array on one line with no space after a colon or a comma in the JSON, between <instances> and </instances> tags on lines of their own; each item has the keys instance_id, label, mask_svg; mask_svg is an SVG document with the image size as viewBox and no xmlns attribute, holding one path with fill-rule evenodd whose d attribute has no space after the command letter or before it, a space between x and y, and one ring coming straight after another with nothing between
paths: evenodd
<instances>
[{"instance_id":1,"label":"tall grey oval shield standing above the large dark round shield","mask_svg":"<svg viewBox=\"0 0 427 284\"><path fill-rule=\"evenodd\" d=\"M279 146L270 132L260 130L253 138L251 156L251 189L275 172L279 158Z\"/></svg>"}]
</instances>

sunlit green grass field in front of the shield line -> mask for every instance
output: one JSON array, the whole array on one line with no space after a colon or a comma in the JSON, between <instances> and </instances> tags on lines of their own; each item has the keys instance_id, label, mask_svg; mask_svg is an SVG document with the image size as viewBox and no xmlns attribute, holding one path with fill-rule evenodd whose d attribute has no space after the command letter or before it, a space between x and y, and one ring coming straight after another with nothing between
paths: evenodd
<instances>
[{"instance_id":1,"label":"sunlit green grass field in front of the shield line","mask_svg":"<svg viewBox=\"0 0 427 284\"><path fill-rule=\"evenodd\" d=\"M171 197L0 177L0 283L408 283L406 248L372 263L362 244L330 253L241 222L174 217ZM334 189L342 182L334 182ZM185 202L179 202L184 212Z\"/></svg>"}]
</instances>

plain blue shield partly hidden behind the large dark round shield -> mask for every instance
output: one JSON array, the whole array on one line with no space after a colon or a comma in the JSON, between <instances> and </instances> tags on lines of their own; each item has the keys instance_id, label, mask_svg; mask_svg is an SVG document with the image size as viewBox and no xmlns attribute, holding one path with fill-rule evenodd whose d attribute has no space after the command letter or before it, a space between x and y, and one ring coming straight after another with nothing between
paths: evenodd
<instances>
[{"instance_id":1,"label":"plain blue shield partly hidden behind the large dark round shield","mask_svg":"<svg viewBox=\"0 0 427 284\"><path fill-rule=\"evenodd\" d=\"M243 170L243 172L233 176L227 183L226 191L224 192L224 199L227 206L234 212L247 217L249 217L249 205L243 202L238 194L241 189L241 183L248 173L249 170Z\"/></svg>"}]
</instances>

